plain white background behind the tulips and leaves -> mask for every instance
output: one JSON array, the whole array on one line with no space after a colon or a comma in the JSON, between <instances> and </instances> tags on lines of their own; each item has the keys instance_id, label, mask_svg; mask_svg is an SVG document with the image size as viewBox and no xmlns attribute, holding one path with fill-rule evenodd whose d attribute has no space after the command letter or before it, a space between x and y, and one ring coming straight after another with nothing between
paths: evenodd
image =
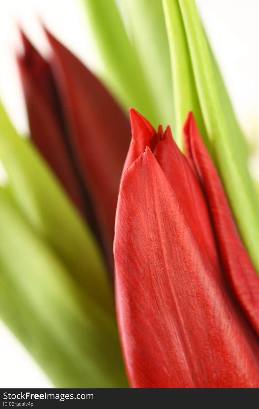
<instances>
[{"instance_id":1,"label":"plain white background behind the tulips and leaves","mask_svg":"<svg viewBox=\"0 0 259 409\"><path fill-rule=\"evenodd\" d=\"M248 138L259 144L259 1L197 0L196 3L241 125ZM50 50L39 18L91 69L101 70L80 0L1 0L0 99L22 133L28 126L14 58L15 52L21 50L17 23L43 54L48 54ZM259 180L258 151L250 169ZM41 369L1 322L0 387L51 387Z\"/></svg>"}]
</instances>

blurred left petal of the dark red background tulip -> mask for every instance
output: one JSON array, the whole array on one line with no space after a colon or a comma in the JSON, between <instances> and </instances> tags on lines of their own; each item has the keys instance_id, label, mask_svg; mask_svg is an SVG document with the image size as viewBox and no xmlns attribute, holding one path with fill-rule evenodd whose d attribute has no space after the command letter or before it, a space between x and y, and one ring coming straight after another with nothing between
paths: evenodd
<instances>
[{"instance_id":1,"label":"blurred left petal of the dark red background tulip","mask_svg":"<svg viewBox=\"0 0 259 409\"><path fill-rule=\"evenodd\" d=\"M18 67L29 116L31 137L81 213L86 205L72 158L65 142L65 128L54 79L48 63L21 31L25 54Z\"/></svg>"}]
</instances>

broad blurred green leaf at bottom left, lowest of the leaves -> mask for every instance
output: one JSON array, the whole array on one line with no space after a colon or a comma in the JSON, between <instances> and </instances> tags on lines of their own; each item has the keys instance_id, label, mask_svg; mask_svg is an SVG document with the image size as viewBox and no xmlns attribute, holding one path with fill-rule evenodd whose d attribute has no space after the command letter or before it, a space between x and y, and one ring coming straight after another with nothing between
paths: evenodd
<instances>
[{"instance_id":1,"label":"broad blurred green leaf at bottom left, lowest of the leaves","mask_svg":"<svg viewBox=\"0 0 259 409\"><path fill-rule=\"evenodd\" d=\"M127 387L117 326L0 193L0 315L56 387Z\"/></svg>"}]
</instances>

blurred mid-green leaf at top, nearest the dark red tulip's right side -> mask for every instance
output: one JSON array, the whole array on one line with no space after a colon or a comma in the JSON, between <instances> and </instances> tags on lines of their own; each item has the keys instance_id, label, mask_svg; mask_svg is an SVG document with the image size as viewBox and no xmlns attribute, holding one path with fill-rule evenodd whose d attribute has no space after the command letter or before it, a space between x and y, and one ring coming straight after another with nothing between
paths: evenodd
<instances>
[{"instance_id":1,"label":"blurred mid-green leaf at top, nearest the dark red tulip's right side","mask_svg":"<svg viewBox=\"0 0 259 409\"><path fill-rule=\"evenodd\" d=\"M106 68L104 81L128 112L142 113L154 126L160 119L140 61L114 0L83 0Z\"/></svg>"}]
</instances>

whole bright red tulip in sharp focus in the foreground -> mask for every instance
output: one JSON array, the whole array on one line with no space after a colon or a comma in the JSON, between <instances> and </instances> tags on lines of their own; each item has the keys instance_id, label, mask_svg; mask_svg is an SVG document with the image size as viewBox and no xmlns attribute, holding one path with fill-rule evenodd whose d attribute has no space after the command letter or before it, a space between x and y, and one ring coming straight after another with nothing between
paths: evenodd
<instances>
[{"instance_id":1,"label":"whole bright red tulip in sharp focus in the foreground","mask_svg":"<svg viewBox=\"0 0 259 409\"><path fill-rule=\"evenodd\" d=\"M194 117L187 157L169 127L131 126L114 241L131 386L258 388L259 279Z\"/></svg>"}]
</instances>

